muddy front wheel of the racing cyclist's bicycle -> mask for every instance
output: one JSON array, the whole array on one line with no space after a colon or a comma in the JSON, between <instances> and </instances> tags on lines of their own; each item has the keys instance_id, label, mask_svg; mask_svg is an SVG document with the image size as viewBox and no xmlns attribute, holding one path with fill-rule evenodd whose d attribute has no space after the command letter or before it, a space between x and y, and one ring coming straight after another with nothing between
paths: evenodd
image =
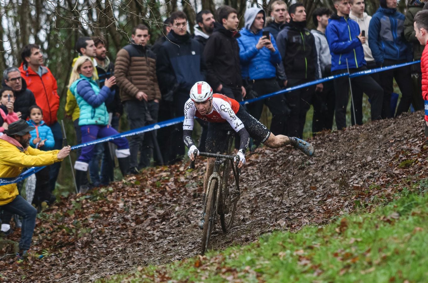
<instances>
[{"instance_id":1,"label":"muddy front wheel of the racing cyclist's bicycle","mask_svg":"<svg viewBox=\"0 0 428 283\"><path fill-rule=\"evenodd\" d=\"M205 216L204 216L204 227L202 230L202 246L201 254L203 255L210 244L211 232L215 224L216 207L215 207L215 196L217 192L218 184L217 179L212 179L208 195L205 202Z\"/></svg>"}]
</instances>

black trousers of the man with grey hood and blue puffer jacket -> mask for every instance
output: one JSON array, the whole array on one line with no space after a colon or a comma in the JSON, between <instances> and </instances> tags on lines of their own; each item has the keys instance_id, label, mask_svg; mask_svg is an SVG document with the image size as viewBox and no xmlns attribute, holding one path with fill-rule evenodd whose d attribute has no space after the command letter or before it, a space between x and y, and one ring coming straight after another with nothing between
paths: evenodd
<instances>
[{"instance_id":1,"label":"black trousers of the man with grey hood and blue puffer jacket","mask_svg":"<svg viewBox=\"0 0 428 283\"><path fill-rule=\"evenodd\" d=\"M259 96L281 90L278 82L276 81L276 78L274 77L271 79L253 80L250 82L250 86L253 87L253 90L257 92L257 95ZM248 112L257 120L260 120L260 116L262 116L263 104L266 104L272 113L270 131L274 135L286 135L288 107L285 104L284 95L275 95L270 98L248 104Z\"/></svg>"}]
</instances>

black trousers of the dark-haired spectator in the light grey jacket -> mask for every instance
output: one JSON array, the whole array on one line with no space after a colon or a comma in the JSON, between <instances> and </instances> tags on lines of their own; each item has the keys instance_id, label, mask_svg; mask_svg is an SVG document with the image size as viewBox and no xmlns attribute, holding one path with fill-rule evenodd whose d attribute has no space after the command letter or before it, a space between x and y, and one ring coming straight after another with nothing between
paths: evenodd
<instances>
[{"instance_id":1,"label":"black trousers of the dark-haired spectator in the light grey jacket","mask_svg":"<svg viewBox=\"0 0 428 283\"><path fill-rule=\"evenodd\" d=\"M328 80L323 83L322 92L315 92L312 98L314 116L312 117L312 134L333 128L335 93L334 83Z\"/></svg>"}]
</instances>

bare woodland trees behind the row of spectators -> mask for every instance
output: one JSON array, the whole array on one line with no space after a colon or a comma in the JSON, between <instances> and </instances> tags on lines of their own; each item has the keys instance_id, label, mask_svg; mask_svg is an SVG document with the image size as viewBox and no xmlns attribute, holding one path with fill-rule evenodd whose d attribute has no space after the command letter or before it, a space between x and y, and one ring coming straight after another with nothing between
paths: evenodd
<instances>
[{"instance_id":1,"label":"bare woodland trees behind the row of spectators","mask_svg":"<svg viewBox=\"0 0 428 283\"><path fill-rule=\"evenodd\" d=\"M296 1L285 0L290 5ZM303 0L306 7L308 27L312 26L312 12L319 6L334 10L332 0ZM193 32L196 12L208 9L213 12L218 6L230 5L238 11L240 27L244 25L244 12L248 7L259 6L270 15L267 0L11 0L0 2L1 26L0 68L21 64L20 51L29 43L41 46L45 65L51 69L58 81L61 98L58 119L63 118L66 85L71 71L71 62L77 57L74 42L79 36L104 36L107 39L107 55L115 59L116 52L125 46L131 37L132 27L146 24L151 33L151 43L162 36L163 21L176 10L184 11ZM372 15L379 0L366 0L366 12ZM405 0L399 2L404 12ZM69 143L74 144L74 129L71 121L65 121ZM123 127L122 130L125 130ZM69 164L62 165L62 171ZM61 172L61 175L65 174ZM59 182L68 182L68 174ZM66 180L66 181L64 181ZM66 185L68 186L68 185Z\"/></svg>"}]
</instances>

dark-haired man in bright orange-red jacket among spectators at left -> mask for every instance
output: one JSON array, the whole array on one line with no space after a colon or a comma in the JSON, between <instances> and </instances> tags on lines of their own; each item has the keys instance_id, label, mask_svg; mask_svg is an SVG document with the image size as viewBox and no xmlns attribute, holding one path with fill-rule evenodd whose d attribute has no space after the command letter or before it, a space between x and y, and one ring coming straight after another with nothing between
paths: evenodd
<instances>
[{"instance_id":1,"label":"dark-haired man in bright orange-red jacket among spectators at left","mask_svg":"<svg viewBox=\"0 0 428 283\"><path fill-rule=\"evenodd\" d=\"M21 76L27 82L27 87L30 89L36 98L36 104L43 110L44 121L51 128L55 146L53 149L61 149L62 147L62 131L58 123L56 113L59 108L59 96L56 90L58 86L56 79L51 71L43 66L43 54L38 45L29 44L21 51L22 64L19 67ZM56 178L58 177L61 163L56 163L51 166L49 186L51 191L55 189Z\"/></svg>"}]
</instances>

